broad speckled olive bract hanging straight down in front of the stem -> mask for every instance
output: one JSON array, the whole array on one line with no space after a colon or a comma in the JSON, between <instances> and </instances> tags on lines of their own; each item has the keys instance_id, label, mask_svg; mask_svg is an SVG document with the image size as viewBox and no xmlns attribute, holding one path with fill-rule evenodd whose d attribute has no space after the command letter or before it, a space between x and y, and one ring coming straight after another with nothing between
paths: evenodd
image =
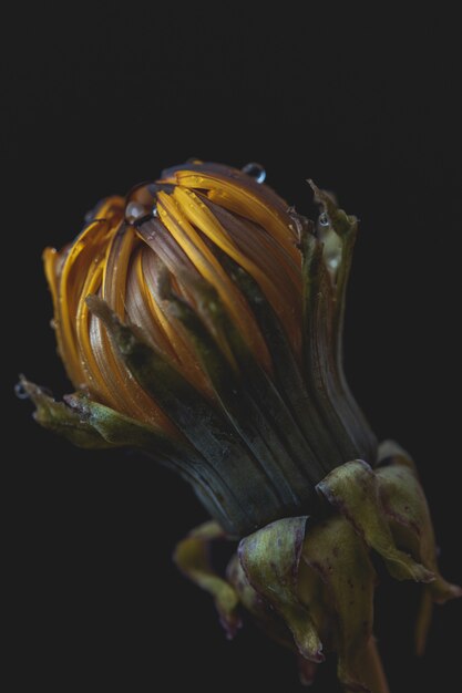
<instances>
[{"instance_id":1,"label":"broad speckled olive bract hanging straight down in front of the stem","mask_svg":"<svg viewBox=\"0 0 462 693\"><path fill-rule=\"evenodd\" d=\"M366 544L345 517L332 516L308 527L302 561L319 575L330 594L339 680L348 690L368 691L358 666L373 623L376 572Z\"/></svg>"}]
</instances>

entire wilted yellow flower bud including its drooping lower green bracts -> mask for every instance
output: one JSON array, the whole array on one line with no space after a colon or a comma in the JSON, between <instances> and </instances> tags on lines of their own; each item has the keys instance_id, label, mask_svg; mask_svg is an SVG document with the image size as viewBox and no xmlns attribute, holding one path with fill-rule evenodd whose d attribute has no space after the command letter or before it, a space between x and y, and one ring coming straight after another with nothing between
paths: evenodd
<instances>
[{"instance_id":1,"label":"entire wilted yellow flower bud including its drooping lower green bracts","mask_svg":"<svg viewBox=\"0 0 462 693\"><path fill-rule=\"evenodd\" d=\"M193 485L214 520L175 557L229 634L242 604L298 651L305 681L325 644L347 689L369 690L369 551L430 585L427 610L460 590L438 572L413 463L378 453L343 375L357 220L311 184L315 225L263 178L194 161L100 203L72 244L44 252L78 392L60 403L22 386L42 425L138 447ZM240 539L226 579L206 556L224 537Z\"/></svg>"}]
</instances>

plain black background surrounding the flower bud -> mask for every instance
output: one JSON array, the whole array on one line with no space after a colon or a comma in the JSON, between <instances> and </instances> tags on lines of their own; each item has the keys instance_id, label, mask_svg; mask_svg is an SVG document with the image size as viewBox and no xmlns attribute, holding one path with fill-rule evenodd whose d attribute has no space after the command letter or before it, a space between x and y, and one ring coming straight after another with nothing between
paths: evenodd
<instances>
[{"instance_id":1,"label":"plain black background surrounding the flower bud","mask_svg":"<svg viewBox=\"0 0 462 693\"><path fill-rule=\"evenodd\" d=\"M456 21L342 4L254 15L217 3L74 4L6 18L11 691L299 690L291 655L250 624L227 643L209 599L172 565L174 544L205 518L188 488L137 456L72 448L12 396L20 371L70 389L42 248L74 236L99 198L189 156L261 162L308 214L312 177L360 217L347 373L379 437L418 461L441 567L461 579ZM460 604L438 609L417 661L417 592L384 580L378 593L392 691L459 690ZM314 691L333 692L333 681L325 664Z\"/></svg>"}]
</instances>

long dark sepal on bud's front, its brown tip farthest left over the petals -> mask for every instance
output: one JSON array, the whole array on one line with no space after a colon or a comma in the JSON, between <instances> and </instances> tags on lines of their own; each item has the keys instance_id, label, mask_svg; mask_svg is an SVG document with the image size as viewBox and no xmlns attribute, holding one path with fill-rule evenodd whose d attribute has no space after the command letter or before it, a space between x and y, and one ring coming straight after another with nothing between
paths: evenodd
<instances>
[{"instance_id":1,"label":"long dark sepal on bud's front, its brown tip farthest left over the petals","mask_svg":"<svg viewBox=\"0 0 462 693\"><path fill-rule=\"evenodd\" d=\"M219 524L232 536L258 527L261 511L274 506L274 494L229 420L151 348L137 328L122 324L101 299L93 296L86 301L134 377L195 448L193 476L198 470L207 480L207 496L215 509L208 507Z\"/></svg>"}]
</instances>

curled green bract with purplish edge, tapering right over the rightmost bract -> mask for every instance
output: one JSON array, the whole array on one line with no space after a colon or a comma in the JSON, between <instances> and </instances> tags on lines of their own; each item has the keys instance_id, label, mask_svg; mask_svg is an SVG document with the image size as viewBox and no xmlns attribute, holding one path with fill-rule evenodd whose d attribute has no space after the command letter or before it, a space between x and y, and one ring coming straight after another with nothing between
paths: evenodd
<instances>
[{"instance_id":1,"label":"curled green bract with purplish edge, tapering right over the rightmost bract","mask_svg":"<svg viewBox=\"0 0 462 693\"><path fill-rule=\"evenodd\" d=\"M381 503L379 480L366 462L356 459L337 467L317 488L383 558L392 577L418 582L434 580L433 572L397 548Z\"/></svg>"}]
</instances>

